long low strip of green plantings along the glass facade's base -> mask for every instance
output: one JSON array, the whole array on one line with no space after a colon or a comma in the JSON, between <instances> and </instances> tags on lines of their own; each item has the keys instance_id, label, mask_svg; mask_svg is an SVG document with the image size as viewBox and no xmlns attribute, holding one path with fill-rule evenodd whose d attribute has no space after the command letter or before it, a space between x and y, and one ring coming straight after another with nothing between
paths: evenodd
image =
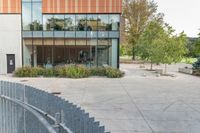
<instances>
[{"instance_id":1,"label":"long low strip of green plantings along the glass facade's base","mask_svg":"<svg viewBox=\"0 0 200 133\"><path fill-rule=\"evenodd\" d=\"M121 78L124 73L111 67L87 68L79 65L44 69L40 67L22 67L15 71L16 77L66 77L87 78L89 76L106 76L108 78Z\"/></svg>"}]
</instances>

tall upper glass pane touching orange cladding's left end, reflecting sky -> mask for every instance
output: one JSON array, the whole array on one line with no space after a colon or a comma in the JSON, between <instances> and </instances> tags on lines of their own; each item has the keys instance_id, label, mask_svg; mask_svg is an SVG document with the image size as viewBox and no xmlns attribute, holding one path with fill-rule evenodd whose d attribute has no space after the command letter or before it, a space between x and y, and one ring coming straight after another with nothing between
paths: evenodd
<instances>
[{"instance_id":1,"label":"tall upper glass pane touching orange cladding's left end, reflecting sky","mask_svg":"<svg viewBox=\"0 0 200 133\"><path fill-rule=\"evenodd\" d=\"M33 30L42 30L42 3L32 3L32 4L33 4L33 10L32 10Z\"/></svg>"}]
</instances>

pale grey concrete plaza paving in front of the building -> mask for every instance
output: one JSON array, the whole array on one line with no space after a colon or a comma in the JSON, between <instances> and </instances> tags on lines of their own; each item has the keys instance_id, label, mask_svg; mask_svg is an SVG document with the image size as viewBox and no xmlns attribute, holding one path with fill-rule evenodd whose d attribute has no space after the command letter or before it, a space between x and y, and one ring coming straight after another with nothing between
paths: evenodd
<instances>
[{"instance_id":1,"label":"pale grey concrete plaza paving in front of the building","mask_svg":"<svg viewBox=\"0 0 200 133\"><path fill-rule=\"evenodd\" d=\"M178 73L177 65L169 67L175 77L156 77L135 64L122 64L121 69L126 75L120 79L0 76L0 80L61 92L59 96L81 106L112 133L200 132L199 77Z\"/></svg>"}]
</instances>

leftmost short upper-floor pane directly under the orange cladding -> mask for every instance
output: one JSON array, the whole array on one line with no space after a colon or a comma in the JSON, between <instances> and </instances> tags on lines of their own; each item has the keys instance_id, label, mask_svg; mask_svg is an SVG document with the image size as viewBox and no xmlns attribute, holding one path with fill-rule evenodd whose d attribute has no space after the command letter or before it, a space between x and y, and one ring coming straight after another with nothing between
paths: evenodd
<instances>
[{"instance_id":1,"label":"leftmost short upper-floor pane directly under the orange cladding","mask_svg":"<svg viewBox=\"0 0 200 133\"><path fill-rule=\"evenodd\" d=\"M54 29L53 15L43 15L43 29L45 31L50 31Z\"/></svg>"}]
</instances>

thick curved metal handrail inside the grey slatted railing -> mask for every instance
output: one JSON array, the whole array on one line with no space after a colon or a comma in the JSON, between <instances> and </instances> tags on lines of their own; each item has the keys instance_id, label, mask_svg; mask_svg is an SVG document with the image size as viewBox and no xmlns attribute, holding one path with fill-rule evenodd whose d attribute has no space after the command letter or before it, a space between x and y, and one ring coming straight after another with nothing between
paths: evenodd
<instances>
[{"instance_id":1,"label":"thick curved metal handrail inside the grey slatted railing","mask_svg":"<svg viewBox=\"0 0 200 133\"><path fill-rule=\"evenodd\" d=\"M15 104L20 105L21 107L23 107L27 111L31 112L43 124L43 126L49 131L49 133L57 133L55 131L55 129L47 122L47 120L45 118L43 118L42 115L40 115L37 111L35 111L31 107L29 107L29 106L27 106L25 104L22 104L21 102L18 102L16 99L12 99L12 98L4 96L4 95L0 95L0 98L6 99L8 101L11 101L11 102L13 102Z\"/></svg>"}]
</instances>

